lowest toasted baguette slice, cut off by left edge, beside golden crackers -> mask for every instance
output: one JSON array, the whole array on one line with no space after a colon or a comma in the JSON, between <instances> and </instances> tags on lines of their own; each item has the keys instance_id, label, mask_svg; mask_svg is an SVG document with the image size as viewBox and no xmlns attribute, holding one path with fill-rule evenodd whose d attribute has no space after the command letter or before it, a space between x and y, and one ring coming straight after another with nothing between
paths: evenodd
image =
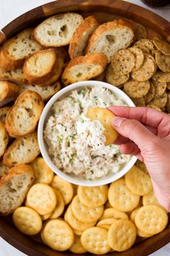
<instances>
[{"instance_id":1,"label":"lowest toasted baguette slice, cut off by left edge, beside golden crackers","mask_svg":"<svg viewBox=\"0 0 170 256\"><path fill-rule=\"evenodd\" d=\"M2 176L0 181L1 215L9 215L22 205L34 178L33 168L26 164L10 168L8 174Z\"/></svg>"}]
</instances>

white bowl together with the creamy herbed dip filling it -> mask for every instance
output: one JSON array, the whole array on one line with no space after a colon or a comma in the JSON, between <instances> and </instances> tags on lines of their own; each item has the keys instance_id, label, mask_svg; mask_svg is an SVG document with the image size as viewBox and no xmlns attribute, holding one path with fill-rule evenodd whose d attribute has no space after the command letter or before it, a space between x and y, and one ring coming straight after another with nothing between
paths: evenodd
<instances>
[{"instance_id":1,"label":"white bowl together with the creamy herbed dip filling it","mask_svg":"<svg viewBox=\"0 0 170 256\"><path fill-rule=\"evenodd\" d=\"M90 107L131 106L133 101L106 82L68 85L48 101L38 125L38 142L45 162L55 174L73 184L101 186L126 174L137 158L104 145L104 127L90 121Z\"/></svg>"}]
</instances>

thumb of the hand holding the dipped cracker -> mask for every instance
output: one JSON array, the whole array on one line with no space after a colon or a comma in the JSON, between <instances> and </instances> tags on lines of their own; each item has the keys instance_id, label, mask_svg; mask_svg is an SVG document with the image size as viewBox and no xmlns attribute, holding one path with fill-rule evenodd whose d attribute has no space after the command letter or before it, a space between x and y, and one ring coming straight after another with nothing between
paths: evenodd
<instances>
[{"instance_id":1,"label":"thumb of the hand holding the dipped cracker","mask_svg":"<svg viewBox=\"0 0 170 256\"><path fill-rule=\"evenodd\" d=\"M125 119L115 116L115 118L112 119L112 126L120 135L128 137L135 142L140 150L146 146L146 143L148 145L149 142L152 142L153 139L156 138L143 124L134 119Z\"/></svg>"}]
</instances>

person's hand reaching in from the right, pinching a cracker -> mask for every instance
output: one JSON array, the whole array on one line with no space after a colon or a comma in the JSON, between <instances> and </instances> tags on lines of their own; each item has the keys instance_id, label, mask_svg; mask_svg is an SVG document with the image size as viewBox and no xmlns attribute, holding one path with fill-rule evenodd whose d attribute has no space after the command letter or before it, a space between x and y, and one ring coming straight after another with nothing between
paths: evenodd
<instances>
[{"instance_id":1,"label":"person's hand reaching in from the right, pinching a cracker","mask_svg":"<svg viewBox=\"0 0 170 256\"><path fill-rule=\"evenodd\" d=\"M158 202L170 211L170 116L145 107L109 107L120 136L115 144L124 154L146 164Z\"/></svg>"}]
</instances>

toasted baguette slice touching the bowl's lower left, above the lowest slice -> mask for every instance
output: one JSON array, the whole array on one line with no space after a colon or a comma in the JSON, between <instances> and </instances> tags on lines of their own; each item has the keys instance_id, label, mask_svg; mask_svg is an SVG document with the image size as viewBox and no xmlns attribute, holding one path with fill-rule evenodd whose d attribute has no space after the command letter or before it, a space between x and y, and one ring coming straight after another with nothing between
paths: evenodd
<instances>
[{"instance_id":1,"label":"toasted baguette slice touching the bowl's lower left, above the lowest slice","mask_svg":"<svg viewBox=\"0 0 170 256\"><path fill-rule=\"evenodd\" d=\"M3 163L9 167L22 163L30 163L39 154L40 149L37 142L37 132L32 132L12 142L4 153Z\"/></svg>"}]
</instances>

